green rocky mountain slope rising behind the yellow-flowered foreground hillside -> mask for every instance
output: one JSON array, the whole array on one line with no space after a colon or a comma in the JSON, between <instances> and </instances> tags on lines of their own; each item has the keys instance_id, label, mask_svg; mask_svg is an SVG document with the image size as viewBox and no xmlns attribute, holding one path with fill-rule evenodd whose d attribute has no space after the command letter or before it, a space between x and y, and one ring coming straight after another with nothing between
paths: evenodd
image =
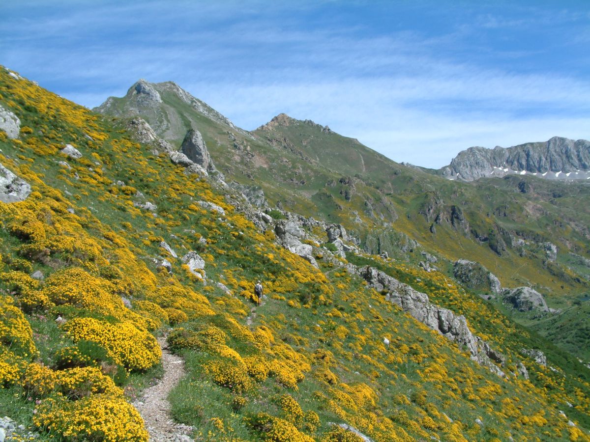
<instances>
[{"instance_id":1,"label":"green rocky mountain slope rising behind the yellow-flowered foreground hillside","mask_svg":"<svg viewBox=\"0 0 590 442\"><path fill-rule=\"evenodd\" d=\"M569 265L564 257L570 252L590 254L587 183L520 176L450 181L395 163L312 121L284 114L248 134L198 100L187 104L176 86L154 86L162 97L155 108L137 107L136 97L128 94L110 98L102 111L140 114L156 130L161 127L160 136L177 146L185 131L195 127L227 179L261 186L271 206L342 223L373 253L385 250L417 263L423 259L422 248L412 246L409 238L445 260L476 260L503 286L532 286L552 308L571 309L572 321L583 326L579 321L584 315L575 314L579 306L573 302L588 292L588 278L584 269ZM526 183L527 193L520 192L521 182ZM556 262L547 259L544 242L558 247ZM450 269L444 261L439 266ZM530 325L527 318L509 313ZM555 339L556 344L563 342Z\"/></svg>"}]
</instances>

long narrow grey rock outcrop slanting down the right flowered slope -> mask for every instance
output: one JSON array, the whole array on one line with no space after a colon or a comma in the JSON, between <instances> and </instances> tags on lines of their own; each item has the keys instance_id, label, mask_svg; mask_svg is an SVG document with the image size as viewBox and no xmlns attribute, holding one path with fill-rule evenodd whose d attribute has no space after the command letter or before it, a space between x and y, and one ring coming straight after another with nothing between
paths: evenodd
<instances>
[{"instance_id":1,"label":"long narrow grey rock outcrop slanting down the right flowered slope","mask_svg":"<svg viewBox=\"0 0 590 442\"><path fill-rule=\"evenodd\" d=\"M385 293L385 299L400 306L415 319L438 331L444 337L457 342L459 347L465 347L471 355L471 359L478 364L489 368L499 376L504 372L492 361L504 364L504 357L490 348L487 342L475 336L467 325L465 316L455 315L449 309L434 305L428 299L428 295L414 290L411 286L399 282L386 273L371 266L355 268L347 266L348 271L355 272L365 279L376 291Z\"/></svg>"}]
</instances>

